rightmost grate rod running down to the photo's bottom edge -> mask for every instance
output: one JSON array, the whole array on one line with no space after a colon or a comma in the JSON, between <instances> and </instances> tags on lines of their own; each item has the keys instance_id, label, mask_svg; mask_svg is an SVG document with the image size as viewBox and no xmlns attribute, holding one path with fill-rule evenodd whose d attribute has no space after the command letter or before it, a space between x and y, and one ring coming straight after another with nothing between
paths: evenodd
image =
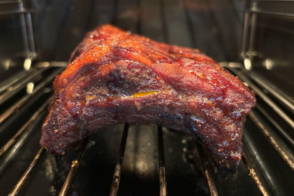
<instances>
[{"instance_id":1,"label":"rightmost grate rod running down to the photo's bottom edge","mask_svg":"<svg viewBox=\"0 0 294 196\"><path fill-rule=\"evenodd\" d=\"M243 152L242 150L242 160L247 168L247 170L249 171L249 175L251 176L251 178L253 179L254 183L256 184L257 188L259 189L259 191L261 192L261 194L263 196L269 196L269 193L267 192L266 188L263 186L263 184L261 183L257 173L255 172L251 162L249 161L249 159L247 158L246 154Z\"/></svg>"}]
</instances>

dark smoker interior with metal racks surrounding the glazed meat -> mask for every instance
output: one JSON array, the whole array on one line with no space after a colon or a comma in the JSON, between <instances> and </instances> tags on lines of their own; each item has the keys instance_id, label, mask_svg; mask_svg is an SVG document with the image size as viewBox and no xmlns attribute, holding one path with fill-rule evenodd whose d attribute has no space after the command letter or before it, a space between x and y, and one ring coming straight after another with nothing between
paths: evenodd
<instances>
[{"instance_id":1,"label":"dark smoker interior with metal racks surrounding the glazed meat","mask_svg":"<svg viewBox=\"0 0 294 196\"><path fill-rule=\"evenodd\" d=\"M258 9L254 7L256 2ZM20 16L0 14L3 22L0 25L0 147L22 130L0 156L1 195L9 194L19 184L18 180L33 160L38 163L29 167L33 168L32 173L18 195L58 195L73 161L81 158L84 151L67 194L109 195L118 154L124 149L120 144L124 141L118 195L164 195L160 189L163 177L159 165L165 168L168 195L293 193L292 2L47 0L32 3L39 55L28 71L20 63L23 59L14 55L23 48L21 26L17 25ZM247 31L246 17L251 21ZM252 21L257 24L254 39ZM154 124L129 125L125 130L123 124L102 128L84 142L85 148L66 153L60 162L41 148L40 130L52 99L55 75L65 68L65 61L84 34L105 23L157 41L200 48L254 91L257 107L245 123L244 153L236 174L222 179L192 138ZM247 69L243 59L251 62L250 67L245 66ZM9 84L14 78L19 81ZM211 173L214 184L207 180L207 172Z\"/></svg>"}]
</instances>

